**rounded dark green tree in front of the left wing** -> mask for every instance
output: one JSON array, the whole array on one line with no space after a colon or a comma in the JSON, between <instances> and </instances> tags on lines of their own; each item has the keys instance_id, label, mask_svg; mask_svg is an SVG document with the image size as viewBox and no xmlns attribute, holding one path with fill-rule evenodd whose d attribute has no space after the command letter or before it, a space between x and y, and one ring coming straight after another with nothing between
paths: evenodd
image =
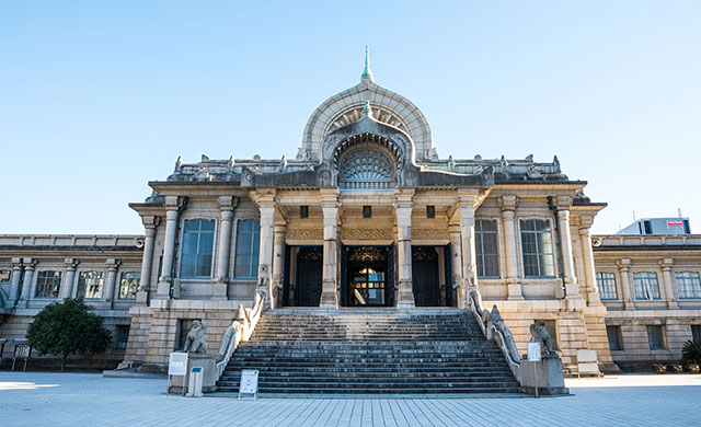
<instances>
[{"instance_id":1,"label":"rounded dark green tree in front of the left wing","mask_svg":"<svg viewBox=\"0 0 701 427\"><path fill-rule=\"evenodd\" d=\"M62 371L68 355L103 353L112 342L102 316L93 310L82 298L53 302L36 314L26 337L41 356L61 355Z\"/></svg>"}]
</instances>

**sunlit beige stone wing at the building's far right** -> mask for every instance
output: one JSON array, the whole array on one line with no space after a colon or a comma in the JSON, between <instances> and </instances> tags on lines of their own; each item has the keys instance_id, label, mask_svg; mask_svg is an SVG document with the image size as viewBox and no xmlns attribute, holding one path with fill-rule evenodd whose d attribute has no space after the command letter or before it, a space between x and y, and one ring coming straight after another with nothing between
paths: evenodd
<instances>
[{"instance_id":1,"label":"sunlit beige stone wing at the building's far right","mask_svg":"<svg viewBox=\"0 0 701 427\"><path fill-rule=\"evenodd\" d=\"M650 369L651 361L678 361L692 328L701 330L701 293L681 288L683 274L701 275L701 236L614 234L596 236L595 244L596 270L614 284L614 292L602 300L606 325L620 334L613 360L630 370ZM652 274L658 296L640 295L640 274ZM648 326L662 333L662 346L655 349Z\"/></svg>"}]
</instances>

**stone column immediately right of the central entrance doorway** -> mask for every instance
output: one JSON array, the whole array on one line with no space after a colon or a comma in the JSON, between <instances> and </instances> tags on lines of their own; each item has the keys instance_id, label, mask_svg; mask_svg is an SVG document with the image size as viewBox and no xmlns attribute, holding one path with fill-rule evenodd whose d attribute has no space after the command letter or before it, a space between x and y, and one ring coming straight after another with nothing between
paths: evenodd
<instances>
[{"instance_id":1,"label":"stone column immediately right of the central entrance doorway","mask_svg":"<svg viewBox=\"0 0 701 427\"><path fill-rule=\"evenodd\" d=\"M397 194L397 262L399 272L398 309L410 309L414 304L412 285L412 205L414 191L400 191ZM393 268L393 266L390 266ZM390 287L392 285L390 284Z\"/></svg>"}]
</instances>

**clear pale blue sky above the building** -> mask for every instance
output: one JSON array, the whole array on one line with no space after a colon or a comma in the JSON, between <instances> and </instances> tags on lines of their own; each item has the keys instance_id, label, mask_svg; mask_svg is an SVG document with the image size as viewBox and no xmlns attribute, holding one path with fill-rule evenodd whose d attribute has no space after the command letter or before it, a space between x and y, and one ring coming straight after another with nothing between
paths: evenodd
<instances>
[{"instance_id":1,"label":"clear pale blue sky above the building","mask_svg":"<svg viewBox=\"0 0 701 427\"><path fill-rule=\"evenodd\" d=\"M441 157L558 154L595 232L701 231L701 2L0 3L0 233L141 233L179 154L294 157L359 81L412 100Z\"/></svg>"}]
</instances>

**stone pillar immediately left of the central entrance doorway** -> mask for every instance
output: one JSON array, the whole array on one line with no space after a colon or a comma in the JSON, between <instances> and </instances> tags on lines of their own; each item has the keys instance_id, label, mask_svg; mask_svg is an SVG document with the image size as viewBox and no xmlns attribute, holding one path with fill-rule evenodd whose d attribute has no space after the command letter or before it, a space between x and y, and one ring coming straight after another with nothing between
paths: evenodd
<instances>
[{"instance_id":1,"label":"stone pillar immediately left of the central entrance doorway","mask_svg":"<svg viewBox=\"0 0 701 427\"><path fill-rule=\"evenodd\" d=\"M338 191L321 191L321 210L324 216L324 269L319 307L337 308L336 266L338 261Z\"/></svg>"}]
</instances>

